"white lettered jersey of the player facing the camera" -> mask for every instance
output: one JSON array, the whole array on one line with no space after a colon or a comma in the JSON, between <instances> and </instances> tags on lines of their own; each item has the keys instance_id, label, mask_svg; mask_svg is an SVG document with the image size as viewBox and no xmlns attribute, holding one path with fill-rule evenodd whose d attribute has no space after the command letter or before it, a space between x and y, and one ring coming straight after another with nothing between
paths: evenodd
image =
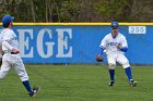
<instances>
[{"instance_id":1,"label":"white lettered jersey of the player facing the camera","mask_svg":"<svg viewBox=\"0 0 153 101\"><path fill-rule=\"evenodd\" d=\"M122 54L123 52L117 49L118 45L128 48L126 37L118 33L116 38L114 38L110 33L104 37L99 47L106 50L106 54Z\"/></svg>"}]
</instances>

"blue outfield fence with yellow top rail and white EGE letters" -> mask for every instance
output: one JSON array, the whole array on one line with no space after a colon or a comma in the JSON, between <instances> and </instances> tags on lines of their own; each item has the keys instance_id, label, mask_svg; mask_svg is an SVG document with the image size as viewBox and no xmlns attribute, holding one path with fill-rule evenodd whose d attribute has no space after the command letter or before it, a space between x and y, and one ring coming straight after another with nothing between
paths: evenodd
<instances>
[{"instance_id":1,"label":"blue outfield fence with yellow top rail and white EGE letters","mask_svg":"<svg viewBox=\"0 0 153 101\"><path fill-rule=\"evenodd\" d=\"M119 23L132 64L153 64L153 23ZM14 23L25 63L92 63L110 23ZM2 26L0 27L2 29ZM107 62L106 55L104 54Z\"/></svg>"}]
</instances>

